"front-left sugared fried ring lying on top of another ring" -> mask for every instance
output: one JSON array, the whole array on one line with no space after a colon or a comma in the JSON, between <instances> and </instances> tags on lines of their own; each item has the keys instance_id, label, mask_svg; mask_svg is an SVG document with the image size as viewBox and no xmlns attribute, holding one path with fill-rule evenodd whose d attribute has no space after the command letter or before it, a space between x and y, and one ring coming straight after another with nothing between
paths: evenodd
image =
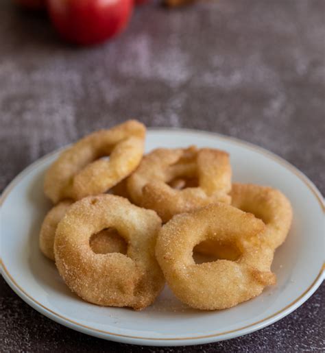
<instances>
[{"instance_id":1,"label":"front-left sugared fried ring lying on top of another ring","mask_svg":"<svg viewBox=\"0 0 325 353\"><path fill-rule=\"evenodd\" d=\"M91 251L91 236L106 228L115 228L125 239L127 256ZM86 197L70 206L58 224L56 266L68 287L84 300L141 310L154 302L165 282L154 256L160 228L156 212L123 197Z\"/></svg>"}]
</instances>

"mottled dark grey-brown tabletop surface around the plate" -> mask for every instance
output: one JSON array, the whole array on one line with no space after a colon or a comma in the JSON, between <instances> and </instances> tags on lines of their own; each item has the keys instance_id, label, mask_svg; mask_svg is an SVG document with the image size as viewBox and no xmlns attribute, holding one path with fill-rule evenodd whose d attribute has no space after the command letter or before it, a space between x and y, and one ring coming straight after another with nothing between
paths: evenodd
<instances>
[{"instance_id":1,"label":"mottled dark grey-brown tabletop surface around the plate","mask_svg":"<svg viewBox=\"0 0 325 353\"><path fill-rule=\"evenodd\" d=\"M42 16L1 0L0 190L47 152L135 117L256 143L324 194L324 10L323 0L219 0L171 11L152 3L119 38L82 49L61 42ZM2 351L148 349L64 328L2 278L0 286ZM245 337L157 351L325 350L324 294L323 284L297 311Z\"/></svg>"}]
</instances>

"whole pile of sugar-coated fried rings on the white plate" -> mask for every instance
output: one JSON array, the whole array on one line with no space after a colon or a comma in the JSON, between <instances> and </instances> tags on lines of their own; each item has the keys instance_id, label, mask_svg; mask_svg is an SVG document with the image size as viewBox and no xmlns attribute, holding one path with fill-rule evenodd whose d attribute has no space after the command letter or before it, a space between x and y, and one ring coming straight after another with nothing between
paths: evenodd
<instances>
[{"instance_id":1,"label":"whole pile of sugar-coated fried rings on the white plate","mask_svg":"<svg viewBox=\"0 0 325 353\"><path fill-rule=\"evenodd\" d=\"M229 155L219 149L158 148L143 156L145 132L134 120L94 132L45 174L53 208L40 249L71 291L101 306L141 310L167 282L185 304L216 310L275 284L274 252L292 219L285 195L232 184Z\"/></svg>"}]
</instances>

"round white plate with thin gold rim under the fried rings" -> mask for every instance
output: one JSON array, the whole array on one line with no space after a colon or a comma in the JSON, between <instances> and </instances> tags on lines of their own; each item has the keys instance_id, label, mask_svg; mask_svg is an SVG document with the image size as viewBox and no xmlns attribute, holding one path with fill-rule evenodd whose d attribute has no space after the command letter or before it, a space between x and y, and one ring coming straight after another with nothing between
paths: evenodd
<instances>
[{"instance_id":1,"label":"round white plate with thin gold rim under the fried rings","mask_svg":"<svg viewBox=\"0 0 325 353\"><path fill-rule=\"evenodd\" d=\"M2 273L27 304L58 323L96 337L139 345L193 345L232 339L268 326L305 302L321 284L324 204L313 183L285 160L264 149L209 132L152 129L147 151L156 147L215 147L230 153L234 182L280 189L293 206L287 240L276 251L278 283L262 295L223 311L197 311L165 288L143 311L101 307L71 293L56 266L38 249L40 225L51 204L43 177L60 151L19 174L1 198Z\"/></svg>"}]
</instances>

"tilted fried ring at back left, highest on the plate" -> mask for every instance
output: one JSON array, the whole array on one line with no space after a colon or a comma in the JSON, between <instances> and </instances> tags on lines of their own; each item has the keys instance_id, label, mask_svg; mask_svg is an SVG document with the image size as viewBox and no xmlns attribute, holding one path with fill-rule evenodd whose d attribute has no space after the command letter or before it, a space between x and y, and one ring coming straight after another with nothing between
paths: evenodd
<instances>
[{"instance_id":1,"label":"tilted fried ring at back left, highest on the plate","mask_svg":"<svg viewBox=\"0 0 325 353\"><path fill-rule=\"evenodd\" d=\"M108 191L139 165L144 138L145 126L135 120L85 136L49 167L45 195L56 204Z\"/></svg>"}]
</instances>

